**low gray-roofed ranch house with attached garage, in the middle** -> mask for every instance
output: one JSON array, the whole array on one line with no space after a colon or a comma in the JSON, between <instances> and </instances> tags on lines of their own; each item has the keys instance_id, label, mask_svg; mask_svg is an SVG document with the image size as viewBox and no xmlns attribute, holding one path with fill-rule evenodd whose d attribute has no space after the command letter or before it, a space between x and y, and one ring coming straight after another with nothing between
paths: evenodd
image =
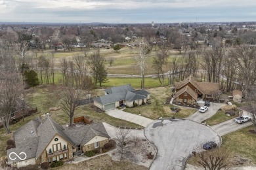
<instances>
[{"instance_id":1,"label":"low gray-roofed ranch house with attached garage, in the middle","mask_svg":"<svg viewBox=\"0 0 256 170\"><path fill-rule=\"evenodd\" d=\"M96 97L94 105L102 110L114 109L121 105L133 107L135 103L142 105L150 99L150 93L146 90L135 90L131 85L116 86L107 88L105 95Z\"/></svg>"}]
</instances>

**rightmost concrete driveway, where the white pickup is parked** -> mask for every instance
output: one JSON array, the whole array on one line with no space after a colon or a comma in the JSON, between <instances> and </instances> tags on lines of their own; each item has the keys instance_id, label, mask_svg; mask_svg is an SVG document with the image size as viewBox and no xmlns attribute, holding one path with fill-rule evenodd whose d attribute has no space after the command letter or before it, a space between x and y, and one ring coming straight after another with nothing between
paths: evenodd
<instances>
[{"instance_id":1,"label":"rightmost concrete driveway, where the white pickup is parked","mask_svg":"<svg viewBox=\"0 0 256 170\"><path fill-rule=\"evenodd\" d=\"M215 131L217 131L219 135L223 136L253 124L252 122L245 122L244 124L238 124L234 122L234 120L235 119L227 120L225 122L222 122L221 124L211 126L211 128L215 129Z\"/></svg>"}]
</instances>

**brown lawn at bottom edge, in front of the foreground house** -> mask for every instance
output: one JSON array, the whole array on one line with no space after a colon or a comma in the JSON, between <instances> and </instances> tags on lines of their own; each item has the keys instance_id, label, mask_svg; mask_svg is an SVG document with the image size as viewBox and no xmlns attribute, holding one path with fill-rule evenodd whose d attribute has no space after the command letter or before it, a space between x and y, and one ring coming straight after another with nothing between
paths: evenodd
<instances>
[{"instance_id":1,"label":"brown lawn at bottom edge, in front of the foreground house","mask_svg":"<svg viewBox=\"0 0 256 170\"><path fill-rule=\"evenodd\" d=\"M130 169L140 169L146 170L147 167L142 165L137 165L135 163L131 163L129 161L114 161L107 154L98 156L96 158L81 161L79 163L65 164L62 167L54 168L56 170L79 170L79 169L104 169L104 170L130 170Z\"/></svg>"}]
</instances>

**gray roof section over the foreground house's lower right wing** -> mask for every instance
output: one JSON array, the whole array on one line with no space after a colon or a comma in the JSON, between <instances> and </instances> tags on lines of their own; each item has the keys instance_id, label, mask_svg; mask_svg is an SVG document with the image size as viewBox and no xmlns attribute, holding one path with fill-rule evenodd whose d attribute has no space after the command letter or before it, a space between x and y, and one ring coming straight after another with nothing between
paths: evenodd
<instances>
[{"instance_id":1,"label":"gray roof section over the foreground house's lower right wing","mask_svg":"<svg viewBox=\"0 0 256 170\"><path fill-rule=\"evenodd\" d=\"M108 133L106 132L104 125L101 122L66 129L64 133L66 133L66 135L68 135L77 145L86 144L96 135L110 138L110 136L108 136Z\"/></svg>"}]
</instances>

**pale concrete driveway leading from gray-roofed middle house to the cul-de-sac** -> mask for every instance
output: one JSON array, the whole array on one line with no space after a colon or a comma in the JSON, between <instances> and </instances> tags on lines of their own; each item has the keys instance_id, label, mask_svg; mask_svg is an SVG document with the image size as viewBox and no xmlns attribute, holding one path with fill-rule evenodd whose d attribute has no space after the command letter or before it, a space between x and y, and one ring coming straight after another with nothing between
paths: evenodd
<instances>
[{"instance_id":1,"label":"pale concrete driveway leading from gray-roofed middle house to the cul-de-sac","mask_svg":"<svg viewBox=\"0 0 256 170\"><path fill-rule=\"evenodd\" d=\"M139 124L140 126L143 126L143 127L146 127L146 126L148 126L148 124L153 122L153 120L151 120L149 118L145 118L143 116L139 116L137 114L132 114L129 112L124 112L123 110L119 110L119 109L105 110L105 112L106 112L106 114L108 114L112 117L119 118L122 120L127 120L129 122Z\"/></svg>"}]
</instances>

